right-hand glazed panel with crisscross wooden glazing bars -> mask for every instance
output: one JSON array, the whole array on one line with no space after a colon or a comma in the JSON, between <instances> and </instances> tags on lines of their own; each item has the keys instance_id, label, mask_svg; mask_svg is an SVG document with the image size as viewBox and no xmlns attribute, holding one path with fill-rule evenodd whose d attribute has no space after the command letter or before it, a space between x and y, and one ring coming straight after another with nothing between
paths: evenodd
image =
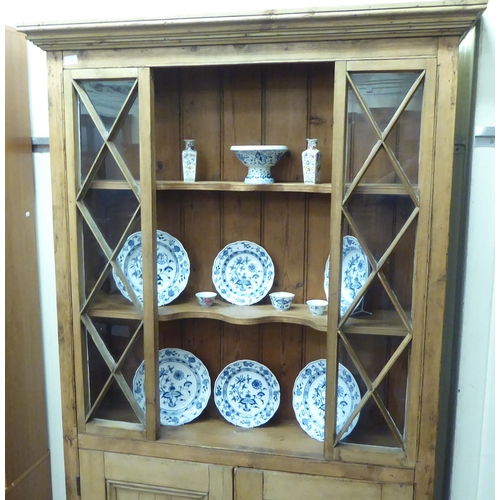
<instances>
[{"instance_id":1,"label":"right-hand glazed panel with crisscross wooden glazing bars","mask_svg":"<svg viewBox=\"0 0 500 500\"><path fill-rule=\"evenodd\" d=\"M432 59L336 64L330 457L384 447L381 463L415 460L434 94Z\"/></svg>"}]
</instances>

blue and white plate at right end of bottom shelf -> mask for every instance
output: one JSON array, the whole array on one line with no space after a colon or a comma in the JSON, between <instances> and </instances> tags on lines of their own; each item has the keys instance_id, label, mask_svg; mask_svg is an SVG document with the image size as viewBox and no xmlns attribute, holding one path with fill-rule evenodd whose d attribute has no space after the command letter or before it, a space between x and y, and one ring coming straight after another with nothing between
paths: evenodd
<instances>
[{"instance_id":1,"label":"blue and white plate at right end of bottom shelf","mask_svg":"<svg viewBox=\"0 0 500 500\"><path fill-rule=\"evenodd\" d=\"M305 366L293 386L292 405L300 427L312 438L325 440L326 360L318 359ZM352 373L341 363L337 379L337 433L361 401L359 387ZM341 439L349 435L359 420L354 417Z\"/></svg>"}]
</instances>

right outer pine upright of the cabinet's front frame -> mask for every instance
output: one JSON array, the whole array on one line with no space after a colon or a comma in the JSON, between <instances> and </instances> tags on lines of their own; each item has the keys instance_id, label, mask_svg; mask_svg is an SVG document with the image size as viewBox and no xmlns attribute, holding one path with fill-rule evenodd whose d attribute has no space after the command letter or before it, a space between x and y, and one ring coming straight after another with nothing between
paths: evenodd
<instances>
[{"instance_id":1,"label":"right outer pine upright of the cabinet's front frame","mask_svg":"<svg viewBox=\"0 0 500 500\"><path fill-rule=\"evenodd\" d=\"M454 116L457 91L458 43L442 38L438 49L438 87L434 191L432 194L432 242L427 295L421 426L415 478L415 498L432 498L436 475L436 439L442 334L448 263L448 232L454 152Z\"/></svg>"}]
</instances>

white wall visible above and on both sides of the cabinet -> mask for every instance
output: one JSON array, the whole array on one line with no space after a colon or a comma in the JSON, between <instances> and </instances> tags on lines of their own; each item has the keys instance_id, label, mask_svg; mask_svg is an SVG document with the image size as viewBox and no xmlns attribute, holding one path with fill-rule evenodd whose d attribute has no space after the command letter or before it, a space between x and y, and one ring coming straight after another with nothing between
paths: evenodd
<instances>
[{"instance_id":1,"label":"white wall visible above and on both sides of the cabinet","mask_svg":"<svg viewBox=\"0 0 500 500\"><path fill-rule=\"evenodd\" d=\"M397 0L394 0L397 1ZM254 0L251 10L347 4L346 0ZM373 3L358 0L356 3ZM383 3L390 3L384 0ZM477 93L476 126L494 126L494 26L498 25L498 0L490 0L485 15L480 50L480 78ZM5 23L16 26L28 22L161 17L178 13L236 12L249 10L224 0L198 7L198 0L170 3L168 9L157 0L102 2L87 0L85 10L72 2L46 0L12 2L4 13ZM117 7L117 5L119 7ZM98 13L98 15L96 14ZM48 136L45 53L30 44L30 92L34 137ZM57 318L51 225L49 154L35 154L35 189L38 256L42 296L42 329L48 399L49 444L52 457L54 500L65 500L60 418L60 384L57 354ZM476 148L472 166L470 225L463 303L462 349L460 357L457 424L454 443L452 500L489 500L493 493L493 205L494 149ZM440 499L436 499L440 500Z\"/></svg>"}]
</instances>

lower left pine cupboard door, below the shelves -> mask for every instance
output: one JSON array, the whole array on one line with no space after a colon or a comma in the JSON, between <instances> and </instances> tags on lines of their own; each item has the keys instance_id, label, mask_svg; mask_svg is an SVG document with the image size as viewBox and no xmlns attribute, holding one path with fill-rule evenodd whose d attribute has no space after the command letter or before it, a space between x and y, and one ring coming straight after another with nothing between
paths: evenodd
<instances>
[{"instance_id":1,"label":"lower left pine cupboard door, below the shelves","mask_svg":"<svg viewBox=\"0 0 500 500\"><path fill-rule=\"evenodd\" d=\"M82 500L231 500L232 468L80 450Z\"/></svg>"}]
</instances>

